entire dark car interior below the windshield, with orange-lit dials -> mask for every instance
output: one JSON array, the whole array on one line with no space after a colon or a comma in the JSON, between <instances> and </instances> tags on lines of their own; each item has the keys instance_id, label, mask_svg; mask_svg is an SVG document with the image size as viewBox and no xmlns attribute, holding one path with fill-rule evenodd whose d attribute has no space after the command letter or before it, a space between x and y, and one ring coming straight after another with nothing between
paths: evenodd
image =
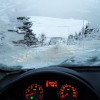
<instances>
[{"instance_id":1,"label":"entire dark car interior below the windshield, with orange-lit dials","mask_svg":"<svg viewBox=\"0 0 100 100\"><path fill-rule=\"evenodd\" d=\"M100 100L99 94L99 67L50 66L0 81L0 100Z\"/></svg>"}]
</instances>

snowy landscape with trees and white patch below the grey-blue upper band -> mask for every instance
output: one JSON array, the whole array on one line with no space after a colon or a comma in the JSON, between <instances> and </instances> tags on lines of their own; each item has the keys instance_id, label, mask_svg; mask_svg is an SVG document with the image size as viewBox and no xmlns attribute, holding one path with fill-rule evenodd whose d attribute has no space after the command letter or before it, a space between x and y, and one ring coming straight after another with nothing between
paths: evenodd
<instances>
[{"instance_id":1,"label":"snowy landscape with trees and white patch below the grey-blue upper band","mask_svg":"<svg viewBox=\"0 0 100 100\"><path fill-rule=\"evenodd\" d=\"M100 65L100 32L86 20L17 17L0 32L0 68Z\"/></svg>"}]
</instances>

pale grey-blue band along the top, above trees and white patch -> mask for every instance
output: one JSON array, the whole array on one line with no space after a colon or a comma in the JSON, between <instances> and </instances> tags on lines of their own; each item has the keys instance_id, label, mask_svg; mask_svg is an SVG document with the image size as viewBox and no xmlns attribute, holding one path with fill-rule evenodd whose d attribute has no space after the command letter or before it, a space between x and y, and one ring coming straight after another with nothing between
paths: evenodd
<instances>
[{"instance_id":1,"label":"pale grey-blue band along the top, above trees and white patch","mask_svg":"<svg viewBox=\"0 0 100 100\"><path fill-rule=\"evenodd\" d=\"M2 0L0 0L2 1ZM48 16L100 21L100 0L3 0L15 6L18 16Z\"/></svg>"}]
</instances>

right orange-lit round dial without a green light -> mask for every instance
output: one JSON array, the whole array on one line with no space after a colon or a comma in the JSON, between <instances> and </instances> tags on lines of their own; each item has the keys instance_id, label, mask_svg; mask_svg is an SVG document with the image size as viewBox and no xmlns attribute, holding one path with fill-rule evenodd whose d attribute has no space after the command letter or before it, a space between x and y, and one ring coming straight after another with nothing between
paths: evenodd
<instances>
[{"instance_id":1,"label":"right orange-lit round dial without a green light","mask_svg":"<svg viewBox=\"0 0 100 100\"><path fill-rule=\"evenodd\" d=\"M65 84L60 88L59 96L61 100L76 100L78 92L75 87Z\"/></svg>"}]
</instances>

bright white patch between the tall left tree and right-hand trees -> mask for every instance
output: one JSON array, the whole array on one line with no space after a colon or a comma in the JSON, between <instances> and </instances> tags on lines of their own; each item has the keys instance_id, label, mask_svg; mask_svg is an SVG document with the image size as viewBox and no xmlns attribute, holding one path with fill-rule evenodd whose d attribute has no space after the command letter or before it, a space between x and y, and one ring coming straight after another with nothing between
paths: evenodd
<instances>
[{"instance_id":1,"label":"bright white patch between the tall left tree and right-hand trees","mask_svg":"<svg viewBox=\"0 0 100 100\"><path fill-rule=\"evenodd\" d=\"M33 32L38 35L45 33L46 37L64 37L69 34L79 33L83 27L83 20L76 19L60 19L51 17L31 16L33 22ZM88 22L84 20L84 26Z\"/></svg>"}]
</instances>

